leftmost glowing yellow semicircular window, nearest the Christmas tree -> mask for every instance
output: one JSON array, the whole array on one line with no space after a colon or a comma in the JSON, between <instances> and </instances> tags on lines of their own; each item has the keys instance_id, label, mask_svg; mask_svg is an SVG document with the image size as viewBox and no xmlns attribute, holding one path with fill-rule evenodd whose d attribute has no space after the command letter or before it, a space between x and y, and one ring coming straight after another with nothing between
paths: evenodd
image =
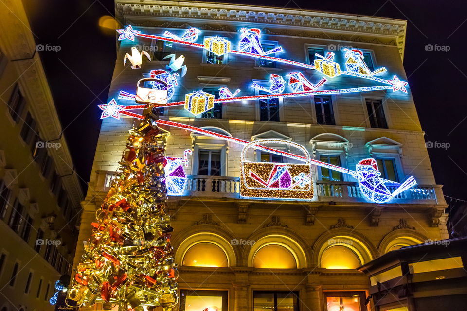
<instances>
[{"instance_id":1,"label":"leftmost glowing yellow semicircular window, nearest the Christmas tree","mask_svg":"<svg viewBox=\"0 0 467 311\"><path fill-rule=\"evenodd\" d=\"M213 243L198 243L190 247L183 257L183 265L193 267L229 266L224 251Z\"/></svg>"}]
</instances>

